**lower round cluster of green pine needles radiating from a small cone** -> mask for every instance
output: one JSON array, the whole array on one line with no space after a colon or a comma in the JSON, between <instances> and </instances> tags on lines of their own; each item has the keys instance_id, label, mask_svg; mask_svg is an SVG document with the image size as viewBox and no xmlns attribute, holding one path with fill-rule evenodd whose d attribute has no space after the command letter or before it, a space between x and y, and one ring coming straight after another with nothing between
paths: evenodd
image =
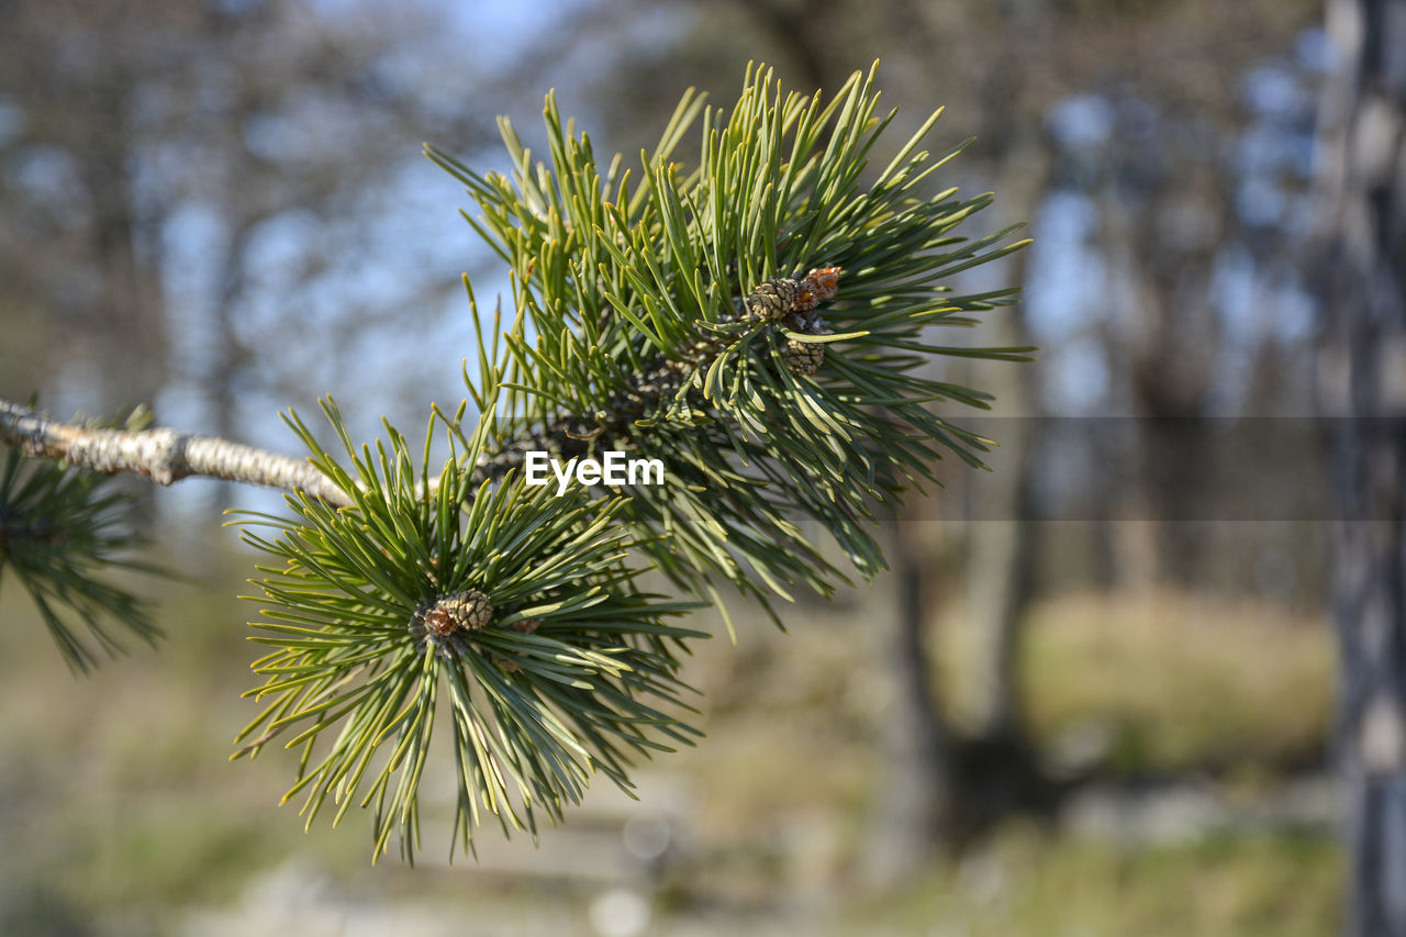
<instances>
[{"instance_id":1,"label":"lower round cluster of green pine needles radiating from a small cone","mask_svg":"<svg viewBox=\"0 0 1406 937\"><path fill-rule=\"evenodd\" d=\"M704 635L671 622L695 605L634 587L623 499L558 498L516 473L475 488L463 466L477 461L491 418L465 436L437 414L432 428L443 423L456 453L432 477L394 428L359 450L336 407L325 409L342 460L290 423L354 506L288 497L291 518L239 522L281 566L257 581L253 640L274 650L253 665L266 682L247 695L267 705L236 757L288 736L301 761L285 799L302 798L309 824L370 808L373 857L395 834L413 861L441 698L465 851L485 812L505 831L536 833L538 815L560 820L593 774L628 788L636 758L692 744L699 733L669 713L689 709L678 654ZM274 536L256 532L270 526ZM484 597L489 620L434 633L436 609L465 595Z\"/></svg>"}]
</instances>

